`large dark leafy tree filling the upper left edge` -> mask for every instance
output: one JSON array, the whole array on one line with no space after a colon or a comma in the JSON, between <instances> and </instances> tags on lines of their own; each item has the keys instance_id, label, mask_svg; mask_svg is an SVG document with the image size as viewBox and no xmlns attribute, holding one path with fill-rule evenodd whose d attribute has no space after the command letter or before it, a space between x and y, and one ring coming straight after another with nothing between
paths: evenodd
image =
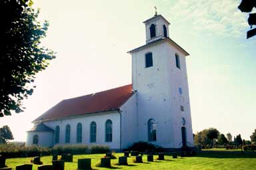
<instances>
[{"instance_id":1,"label":"large dark leafy tree filling the upper left edge","mask_svg":"<svg viewBox=\"0 0 256 170\"><path fill-rule=\"evenodd\" d=\"M39 11L32 4L31 0L0 1L0 117L23 111L21 101L33 93L35 74L55 58L52 50L40 46L49 23L37 21Z\"/></svg>"}]
</instances>

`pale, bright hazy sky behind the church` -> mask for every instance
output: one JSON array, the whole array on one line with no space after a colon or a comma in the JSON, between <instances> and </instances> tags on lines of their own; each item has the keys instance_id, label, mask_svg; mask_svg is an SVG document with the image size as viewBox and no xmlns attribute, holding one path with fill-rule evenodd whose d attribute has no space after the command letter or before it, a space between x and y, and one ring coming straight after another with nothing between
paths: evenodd
<instances>
[{"instance_id":1,"label":"pale, bright hazy sky behind the church","mask_svg":"<svg viewBox=\"0 0 256 170\"><path fill-rule=\"evenodd\" d=\"M187 57L193 133L217 128L249 139L256 128L256 37L245 39L247 14L234 0L35 1L50 22L43 44L57 52L37 74L37 88L21 114L0 118L25 141L31 121L63 99L131 83L127 51L145 44L154 6Z\"/></svg>"}]
</instances>

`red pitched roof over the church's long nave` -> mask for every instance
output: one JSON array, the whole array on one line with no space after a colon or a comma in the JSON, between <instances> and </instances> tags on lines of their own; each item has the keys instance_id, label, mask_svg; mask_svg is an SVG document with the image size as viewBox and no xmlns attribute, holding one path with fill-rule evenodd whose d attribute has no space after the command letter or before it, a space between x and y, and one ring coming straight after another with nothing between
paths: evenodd
<instances>
[{"instance_id":1,"label":"red pitched roof over the church's long nave","mask_svg":"<svg viewBox=\"0 0 256 170\"><path fill-rule=\"evenodd\" d=\"M62 100L33 122L118 110L132 95L132 85Z\"/></svg>"}]
</instances>

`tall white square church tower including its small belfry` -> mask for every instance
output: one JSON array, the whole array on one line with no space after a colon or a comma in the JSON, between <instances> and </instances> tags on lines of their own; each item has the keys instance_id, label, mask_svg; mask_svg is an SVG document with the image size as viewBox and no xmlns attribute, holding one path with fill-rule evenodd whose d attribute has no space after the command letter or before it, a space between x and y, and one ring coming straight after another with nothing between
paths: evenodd
<instances>
[{"instance_id":1,"label":"tall white square church tower including its small belfry","mask_svg":"<svg viewBox=\"0 0 256 170\"><path fill-rule=\"evenodd\" d=\"M137 91L137 141L165 148L193 146L186 57L169 38L169 22L156 15L144 21L146 44L129 51Z\"/></svg>"}]
</instances>

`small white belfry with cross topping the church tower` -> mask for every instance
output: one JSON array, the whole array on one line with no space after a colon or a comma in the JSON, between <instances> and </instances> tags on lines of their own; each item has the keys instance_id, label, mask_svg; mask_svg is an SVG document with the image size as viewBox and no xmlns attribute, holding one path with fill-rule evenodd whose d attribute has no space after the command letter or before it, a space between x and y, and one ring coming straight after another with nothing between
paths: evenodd
<instances>
[{"instance_id":1,"label":"small white belfry with cross topping the church tower","mask_svg":"<svg viewBox=\"0 0 256 170\"><path fill-rule=\"evenodd\" d=\"M169 37L170 23L162 15L157 15L157 11L155 11L154 17L143 23L146 27L146 43Z\"/></svg>"}]
</instances>

